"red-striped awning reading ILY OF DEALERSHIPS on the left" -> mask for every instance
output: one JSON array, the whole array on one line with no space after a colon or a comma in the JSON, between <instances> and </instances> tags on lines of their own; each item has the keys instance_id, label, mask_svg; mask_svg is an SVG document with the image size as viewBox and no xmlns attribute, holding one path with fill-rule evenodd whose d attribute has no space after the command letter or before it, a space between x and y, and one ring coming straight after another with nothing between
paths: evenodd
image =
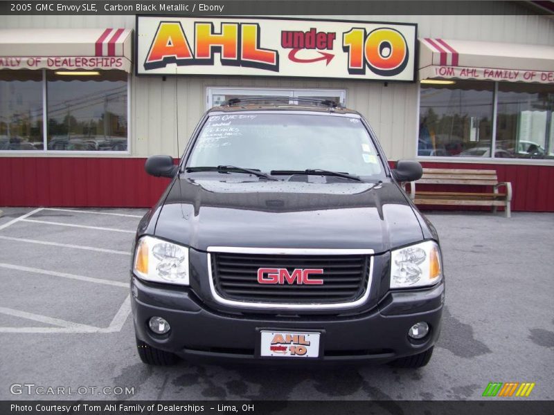
<instances>
[{"instance_id":1,"label":"red-striped awning reading ILY OF DEALERSHIPS on the left","mask_svg":"<svg viewBox=\"0 0 554 415\"><path fill-rule=\"evenodd\" d=\"M3 29L0 69L132 69L132 30Z\"/></svg>"}]
</instances>

